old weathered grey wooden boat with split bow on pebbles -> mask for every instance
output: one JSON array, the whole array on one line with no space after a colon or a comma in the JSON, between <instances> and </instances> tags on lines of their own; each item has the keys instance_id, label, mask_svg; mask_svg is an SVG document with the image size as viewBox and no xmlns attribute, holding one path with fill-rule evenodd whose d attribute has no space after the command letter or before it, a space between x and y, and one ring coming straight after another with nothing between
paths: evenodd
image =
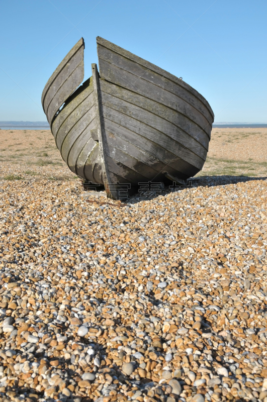
<instances>
[{"instance_id":1,"label":"old weathered grey wooden boat with split bow on pebbles","mask_svg":"<svg viewBox=\"0 0 267 402\"><path fill-rule=\"evenodd\" d=\"M181 78L97 37L99 72L83 82L81 38L49 78L42 105L70 170L109 197L138 183L179 183L206 160L214 114ZM79 86L80 85L80 86Z\"/></svg>"}]
</instances>

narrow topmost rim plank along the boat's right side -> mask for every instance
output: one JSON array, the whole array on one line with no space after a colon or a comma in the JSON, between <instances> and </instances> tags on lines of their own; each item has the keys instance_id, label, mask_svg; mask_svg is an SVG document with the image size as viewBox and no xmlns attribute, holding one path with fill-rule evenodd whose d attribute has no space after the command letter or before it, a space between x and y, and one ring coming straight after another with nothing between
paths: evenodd
<instances>
[{"instance_id":1,"label":"narrow topmost rim plank along the boat's right side","mask_svg":"<svg viewBox=\"0 0 267 402\"><path fill-rule=\"evenodd\" d=\"M181 85L185 89L189 90L192 92L195 96L197 96L201 102L211 111L211 114L213 115L212 109L207 102L207 100L202 96L195 88L187 84L185 81L181 80L180 78L177 78L175 75L170 74L169 72L163 70L162 68L156 66L155 64L150 63L147 60L142 59L141 57L136 56L135 54L121 48L120 46L115 45L114 43L111 43L107 41L106 39L101 38L100 36L97 37L97 44L106 47L107 49L112 50L115 53L121 54L122 56L128 58L129 60L133 60L135 63L138 63L146 68L148 68L151 71L156 72L159 75L162 75L169 80ZM99 46L98 46L99 48ZM103 78L105 78L103 76ZM214 116L214 115L213 115Z\"/></svg>"}]
</instances>

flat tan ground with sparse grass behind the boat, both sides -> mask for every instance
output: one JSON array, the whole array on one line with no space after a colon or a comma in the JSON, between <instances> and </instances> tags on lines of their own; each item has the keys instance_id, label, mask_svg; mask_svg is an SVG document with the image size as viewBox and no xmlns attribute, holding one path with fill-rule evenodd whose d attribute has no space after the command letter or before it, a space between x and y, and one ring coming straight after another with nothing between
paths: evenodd
<instances>
[{"instance_id":1,"label":"flat tan ground with sparse grass behind the boat, both sides","mask_svg":"<svg viewBox=\"0 0 267 402\"><path fill-rule=\"evenodd\" d=\"M50 130L1 130L0 139L1 178L75 178L61 159ZM266 149L266 128L215 128L207 161L197 176L266 177Z\"/></svg>"}]
</instances>

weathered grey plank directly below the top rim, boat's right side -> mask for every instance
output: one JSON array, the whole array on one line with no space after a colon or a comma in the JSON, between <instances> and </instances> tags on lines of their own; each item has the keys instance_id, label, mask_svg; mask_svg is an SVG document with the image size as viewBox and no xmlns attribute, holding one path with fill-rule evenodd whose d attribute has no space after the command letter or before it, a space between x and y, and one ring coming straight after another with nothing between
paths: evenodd
<instances>
[{"instance_id":1,"label":"weathered grey plank directly below the top rim, boat's right side","mask_svg":"<svg viewBox=\"0 0 267 402\"><path fill-rule=\"evenodd\" d=\"M141 77L148 82L160 86L168 92L174 93L181 99L185 100L189 105L194 106L194 108L198 112L202 113L202 115L205 116L206 119L212 124L214 116L211 114L210 108L207 108L206 105L204 105L203 102L201 102L201 100L195 96L194 93L192 93L192 91L185 89L180 85L180 83L173 82L165 76L160 75L148 69L147 67L144 67L141 64L138 64L133 60L123 57L122 55L100 45L98 46L98 56L101 77L110 81L109 71L107 71L105 66L102 68L102 60L105 60L106 62L114 64L122 70L134 74L136 77Z\"/></svg>"}]
</instances>

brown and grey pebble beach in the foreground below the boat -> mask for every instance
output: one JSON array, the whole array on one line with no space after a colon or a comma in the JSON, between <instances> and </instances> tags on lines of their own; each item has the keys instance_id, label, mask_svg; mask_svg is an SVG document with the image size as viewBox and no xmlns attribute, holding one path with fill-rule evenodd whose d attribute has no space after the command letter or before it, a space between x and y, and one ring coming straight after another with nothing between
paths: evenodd
<instances>
[{"instance_id":1,"label":"brown and grey pebble beach in the foreground below the boat","mask_svg":"<svg viewBox=\"0 0 267 402\"><path fill-rule=\"evenodd\" d=\"M265 178L122 205L53 158L0 162L1 402L267 402Z\"/></svg>"}]
</instances>

